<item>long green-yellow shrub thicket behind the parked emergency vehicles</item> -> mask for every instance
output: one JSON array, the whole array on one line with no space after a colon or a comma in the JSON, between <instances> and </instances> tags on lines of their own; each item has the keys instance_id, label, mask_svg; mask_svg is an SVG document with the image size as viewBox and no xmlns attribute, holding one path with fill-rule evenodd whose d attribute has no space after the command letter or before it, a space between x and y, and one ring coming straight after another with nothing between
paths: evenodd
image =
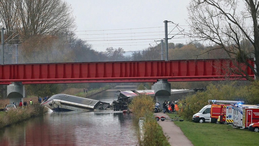
<instances>
[{"instance_id":1,"label":"long green-yellow shrub thicket behind the parked emergency vehicles","mask_svg":"<svg viewBox=\"0 0 259 146\"><path fill-rule=\"evenodd\" d=\"M231 100L244 101L245 104L259 104L259 81L251 82L249 85L239 86L238 82L227 82L206 87L206 91L197 92L181 99L178 103L179 115L185 121L191 121L192 115L197 113L208 100ZM180 105L180 106L179 106Z\"/></svg>"}]
</instances>

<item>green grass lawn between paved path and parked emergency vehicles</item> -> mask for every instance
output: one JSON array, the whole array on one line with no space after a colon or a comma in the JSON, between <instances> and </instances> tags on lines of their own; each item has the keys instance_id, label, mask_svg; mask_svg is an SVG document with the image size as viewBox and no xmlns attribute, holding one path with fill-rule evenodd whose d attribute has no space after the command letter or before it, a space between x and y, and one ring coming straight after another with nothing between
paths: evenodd
<instances>
[{"instance_id":1,"label":"green grass lawn between paved path and parked emergency vehicles","mask_svg":"<svg viewBox=\"0 0 259 146\"><path fill-rule=\"evenodd\" d=\"M174 114L169 114L173 118ZM181 119L181 118L180 118ZM259 133L248 129L233 128L231 125L215 123L193 123L180 122L174 123L181 128L184 135L195 146L244 146L259 145Z\"/></svg>"}]
</instances>

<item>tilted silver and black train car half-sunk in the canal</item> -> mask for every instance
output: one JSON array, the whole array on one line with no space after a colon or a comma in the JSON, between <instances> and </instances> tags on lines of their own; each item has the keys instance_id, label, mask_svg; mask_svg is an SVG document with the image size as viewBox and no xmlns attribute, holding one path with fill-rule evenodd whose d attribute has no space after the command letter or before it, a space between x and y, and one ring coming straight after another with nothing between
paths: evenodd
<instances>
[{"instance_id":1,"label":"tilted silver and black train car half-sunk in the canal","mask_svg":"<svg viewBox=\"0 0 259 146\"><path fill-rule=\"evenodd\" d=\"M41 105L57 112L106 110L110 108L110 103L66 94L53 95L43 101Z\"/></svg>"}]
</instances>

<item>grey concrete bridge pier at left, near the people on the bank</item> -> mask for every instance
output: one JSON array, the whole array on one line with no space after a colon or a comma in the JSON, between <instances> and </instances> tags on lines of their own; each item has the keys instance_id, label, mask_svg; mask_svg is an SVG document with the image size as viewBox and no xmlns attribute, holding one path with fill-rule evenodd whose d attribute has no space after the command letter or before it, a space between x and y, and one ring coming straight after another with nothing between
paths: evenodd
<instances>
[{"instance_id":1,"label":"grey concrete bridge pier at left, near the people on the bank","mask_svg":"<svg viewBox=\"0 0 259 146\"><path fill-rule=\"evenodd\" d=\"M13 82L7 86L7 99L9 99L10 104L14 101L16 106L19 106L20 101L23 103L24 96L24 85L21 82Z\"/></svg>"}]
</instances>

